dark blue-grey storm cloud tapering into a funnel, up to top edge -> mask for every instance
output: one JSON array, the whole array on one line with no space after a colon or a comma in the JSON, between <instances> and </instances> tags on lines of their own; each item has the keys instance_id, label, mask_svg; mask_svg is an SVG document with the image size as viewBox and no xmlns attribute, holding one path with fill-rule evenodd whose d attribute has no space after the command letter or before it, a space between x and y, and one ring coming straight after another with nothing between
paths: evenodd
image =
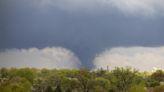
<instances>
[{"instance_id":1,"label":"dark blue-grey storm cloud tapering into a funnel, up to top edge","mask_svg":"<svg viewBox=\"0 0 164 92\"><path fill-rule=\"evenodd\" d=\"M90 68L105 49L163 46L163 4L163 0L1 0L0 49L60 46Z\"/></svg>"}]
</instances>

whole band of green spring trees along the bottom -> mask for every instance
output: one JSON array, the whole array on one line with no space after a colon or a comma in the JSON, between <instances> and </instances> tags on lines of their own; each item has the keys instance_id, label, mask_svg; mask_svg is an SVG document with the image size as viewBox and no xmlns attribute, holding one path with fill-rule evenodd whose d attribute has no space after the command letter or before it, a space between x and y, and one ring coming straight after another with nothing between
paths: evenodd
<instances>
[{"instance_id":1,"label":"whole band of green spring trees along the bottom","mask_svg":"<svg viewBox=\"0 0 164 92\"><path fill-rule=\"evenodd\" d=\"M0 92L164 92L164 72L1 68Z\"/></svg>"}]
</instances>

